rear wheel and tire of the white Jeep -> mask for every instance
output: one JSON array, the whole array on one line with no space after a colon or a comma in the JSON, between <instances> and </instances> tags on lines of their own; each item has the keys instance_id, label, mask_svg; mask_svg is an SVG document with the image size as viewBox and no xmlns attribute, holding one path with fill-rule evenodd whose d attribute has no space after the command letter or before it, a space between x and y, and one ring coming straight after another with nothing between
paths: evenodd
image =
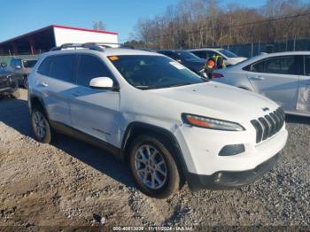
<instances>
[{"instance_id":1,"label":"rear wheel and tire of the white Jeep","mask_svg":"<svg viewBox=\"0 0 310 232\"><path fill-rule=\"evenodd\" d=\"M35 134L35 139L40 143L50 143L52 131L50 122L41 107L35 107L31 113L31 126Z\"/></svg>"}]
</instances>

